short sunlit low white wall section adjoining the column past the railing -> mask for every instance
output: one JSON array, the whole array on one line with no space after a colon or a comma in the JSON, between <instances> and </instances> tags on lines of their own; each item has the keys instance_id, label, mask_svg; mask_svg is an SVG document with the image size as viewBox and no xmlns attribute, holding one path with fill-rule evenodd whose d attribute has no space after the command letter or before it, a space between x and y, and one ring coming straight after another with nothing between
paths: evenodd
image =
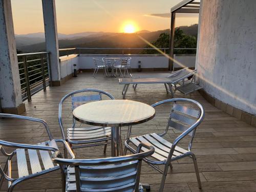
<instances>
[{"instance_id":1,"label":"short sunlit low white wall section adjoining the column past the railing","mask_svg":"<svg viewBox=\"0 0 256 192\"><path fill-rule=\"evenodd\" d=\"M73 65L77 65L79 69L79 59L78 55L69 55L59 57L60 60L60 76L61 79L73 73Z\"/></svg>"}]
</instances>

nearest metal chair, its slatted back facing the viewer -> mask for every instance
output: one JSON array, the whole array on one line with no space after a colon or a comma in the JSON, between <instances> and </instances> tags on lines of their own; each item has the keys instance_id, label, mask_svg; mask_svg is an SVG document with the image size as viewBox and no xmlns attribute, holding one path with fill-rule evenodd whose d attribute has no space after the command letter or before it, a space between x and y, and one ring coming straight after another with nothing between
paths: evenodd
<instances>
[{"instance_id":1,"label":"nearest metal chair, its slatted back facing the viewer","mask_svg":"<svg viewBox=\"0 0 256 192\"><path fill-rule=\"evenodd\" d=\"M141 147L146 152L141 151ZM59 152L52 155L53 162L61 167L62 180L66 187L62 191L125 191L143 192L140 185L141 162L154 153L154 147L140 143L136 154L103 159L62 159ZM65 167L67 166L67 174ZM64 186L64 184L62 184Z\"/></svg>"}]
</instances>

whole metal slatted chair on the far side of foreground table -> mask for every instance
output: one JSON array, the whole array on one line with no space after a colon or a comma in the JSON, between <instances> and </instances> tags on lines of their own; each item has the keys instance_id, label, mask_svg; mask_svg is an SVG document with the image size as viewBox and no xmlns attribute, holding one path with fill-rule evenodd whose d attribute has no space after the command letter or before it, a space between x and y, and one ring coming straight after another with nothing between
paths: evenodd
<instances>
[{"instance_id":1,"label":"whole metal slatted chair on the far side of foreground table","mask_svg":"<svg viewBox=\"0 0 256 192\"><path fill-rule=\"evenodd\" d=\"M88 147L88 146L104 145L104 153L105 153L108 141L111 140L111 127L100 127L100 126L75 127L76 120L72 118L73 125L71 128L67 129L67 137L66 137L63 122L62 122L62 116L61 116L62 104L68 98L71 99L70 102L71 102L72 111L73 111L77 106L81 104L91 102L91 101L101 100L102 95L110 99L115 99L111 94L104 91L95 90L95 89L83 89L83 90L73 91L61 99L59 103L60 130L62 134L62 139L66 140L70 144L72 149Z\"/></svg>"}]
</instances>

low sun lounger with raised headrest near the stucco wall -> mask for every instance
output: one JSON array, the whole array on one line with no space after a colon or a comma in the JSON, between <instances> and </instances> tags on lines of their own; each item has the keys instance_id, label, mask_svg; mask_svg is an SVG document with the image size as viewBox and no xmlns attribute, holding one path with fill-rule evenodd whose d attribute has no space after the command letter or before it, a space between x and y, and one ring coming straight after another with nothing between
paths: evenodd
<instances>
[{"instance_id":1,"label":"low sun lounger with raised headrest near the stucco wall","mask_svg":"<svg viewBox=\"0 0 256 192\"><path fill-rule=\"evenodd\" d=\"M123 91L122 91L123 98L125 98L126 92L129 88L130 84L133 84L134 90L136 90L138 84L164 84L166 92L170 93L172 95L172 97L174 97L172 86L175 86L175 88L176 88L176 84L183 81L182 86L180 86L183 89L181 89L179 91L181 91L181 92L184 91L184 93L185 93L187 90L184 89L184 87L186 86L186 84L184 83L184 80L188 77L194 76L195 73L196 73L196 70L190 70L188 68L184 68L182 70L179 70L177 72L169 74L168 76L158 76L157 77L157 76L153 75L152 77L139 76L139 77L134 77L134 78L119 78L119 84L124 84ZM194 85L196 85L195 82L193 82L193 81L190 81L190 82L193 83ZM193 91L201 89L200 86L198 86L195 89L190 84L190 89L191 88L193 88ZM178 88L176 88L176 89L178 89ZM191 92L193 92L193 91L191 91Z\"/></svg>"}]
</instances>

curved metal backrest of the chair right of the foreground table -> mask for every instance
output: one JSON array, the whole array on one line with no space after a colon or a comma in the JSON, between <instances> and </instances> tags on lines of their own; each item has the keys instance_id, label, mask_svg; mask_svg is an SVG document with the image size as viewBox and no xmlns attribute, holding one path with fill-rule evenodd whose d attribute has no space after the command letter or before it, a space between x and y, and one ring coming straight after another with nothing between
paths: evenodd
<instances>
[{"instance_id":1,"label":"curved metal backrest of the chair right of the foreground table","mask_svg":"<svg viewBox=\"0 0 256 192\"><path fill-rule=\"evenodd\" d=\"M182 134L176 138L174 143L178 143L187 135L190 136L191 139L188 145L188 150L190 151L197 126L202 122L204 118L203 106L195 100L186 98L167 99L157 102L152 106L156 107L167 102L173 102L173 107L170 111L166 129L162 134L159 135L164 136L167 133L169 127L172 127L173 129L182 132ZM193 105L193 108L190 107L191 105Z\"/></svg>"}]
</instances>

